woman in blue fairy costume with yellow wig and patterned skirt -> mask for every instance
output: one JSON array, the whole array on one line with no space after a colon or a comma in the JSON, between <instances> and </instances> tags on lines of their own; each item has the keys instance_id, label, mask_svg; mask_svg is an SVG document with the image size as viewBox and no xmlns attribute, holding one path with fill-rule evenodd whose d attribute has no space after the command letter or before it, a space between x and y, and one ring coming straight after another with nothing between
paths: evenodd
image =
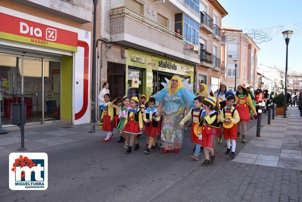
<instances>
[{"instance_id":1,"label":"woman in blue fairy costume with yellow wig and patterned skirt","mask_svg":"<svg viewBox=\"0 0 302 202\"><path fill-rule=\"evenodd\" d=\"M158 113L163 114L161 131L163 154L178 153L182 146L184 130L180 121L193 108L195 95L183 87L178 76L173 76L168 86L153 96L159 104Z\"/></svg>"}]
</instances>

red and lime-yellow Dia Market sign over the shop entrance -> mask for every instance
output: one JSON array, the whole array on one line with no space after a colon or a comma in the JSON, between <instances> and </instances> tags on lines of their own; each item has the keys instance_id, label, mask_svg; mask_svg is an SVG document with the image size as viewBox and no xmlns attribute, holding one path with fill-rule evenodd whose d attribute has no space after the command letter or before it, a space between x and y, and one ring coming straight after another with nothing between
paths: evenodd
<instances>
[{"instance_id":1,"label":"red and lime-yellow Dia Market sign over the shop entrance","mask_svg":"<svg viewBox=\"0 0 302 202\"><path fill-rule=\"evenodd\" d=\"M78 33L0 13L0 38L77 52Z\"/></svg>"}]
</instances>

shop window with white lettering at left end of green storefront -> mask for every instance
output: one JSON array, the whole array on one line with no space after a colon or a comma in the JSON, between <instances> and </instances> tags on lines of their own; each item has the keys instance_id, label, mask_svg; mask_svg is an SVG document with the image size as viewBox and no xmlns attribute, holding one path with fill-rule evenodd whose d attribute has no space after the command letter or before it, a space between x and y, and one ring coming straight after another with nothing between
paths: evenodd
<instances>
[{"instance_id":1,"label":"shop window with white lettering at left end of green storefront","mask_svg":"<svg viewBox=\"0 0 302 202\"><path fill-rule=\"evenodd\" d=\"M128 66L128 97L137 97L142 94L142 73L141 69L129 68Z\"/></svg>"}]
</instances>

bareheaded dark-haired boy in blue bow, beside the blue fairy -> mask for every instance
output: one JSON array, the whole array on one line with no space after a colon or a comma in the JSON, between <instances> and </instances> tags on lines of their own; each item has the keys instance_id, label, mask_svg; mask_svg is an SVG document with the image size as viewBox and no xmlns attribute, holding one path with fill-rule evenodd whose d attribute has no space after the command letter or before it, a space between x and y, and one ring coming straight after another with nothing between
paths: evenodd
<instances>
[{"instance_id":1,"label":"bareheaded dark-haired boy in blue bow, beside the blue fairy","mask_svg":"<svg viewBox=\"0 0 302 202\"><path fill-rule=\"evenodd\" d=\"M159 120L161 116L156 116L157 108L155 107L155 98L149 98L148 107L143 113L143 121L146 123L145 134L149 137L148 146L145 148L144 153L149 154L150 151L156 150L156 136L159 134Z\"/></svg>"}]
</instances>

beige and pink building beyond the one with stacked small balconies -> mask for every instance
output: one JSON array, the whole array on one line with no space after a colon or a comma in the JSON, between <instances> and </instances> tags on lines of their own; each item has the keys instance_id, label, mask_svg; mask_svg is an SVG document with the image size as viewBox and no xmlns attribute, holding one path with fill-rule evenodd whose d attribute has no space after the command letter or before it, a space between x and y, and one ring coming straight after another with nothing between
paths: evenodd
<instances>
[{"instance_id":1,"label":"beige and pink building beyond the one with stacked small balconies","mask_svg":"<svg viewBox=\"0 0 302 202\"><path fill-rule=\"evenodd\" d=\"M236 85L257 86L257 54L260 48L253 38L242 30L231 27L222 28L221 77L228 90ZM237 68L235 66L238 61ZM236 87L237 88L237 87Z\"/></svg>"}]
</instances>

